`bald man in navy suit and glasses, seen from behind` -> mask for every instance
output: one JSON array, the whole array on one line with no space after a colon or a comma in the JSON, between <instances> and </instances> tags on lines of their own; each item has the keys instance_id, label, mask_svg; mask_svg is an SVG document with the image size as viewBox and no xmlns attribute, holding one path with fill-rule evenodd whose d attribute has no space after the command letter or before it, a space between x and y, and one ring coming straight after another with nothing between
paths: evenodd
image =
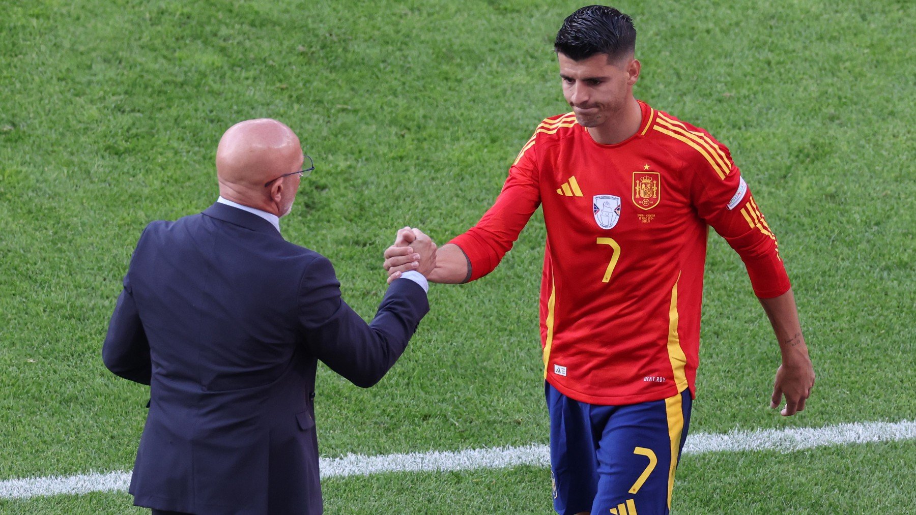
<instances>
[{"instance_id":1,"label":"bald man in navy suit and glasses, seen from behind","mask_svg":"<svg viewBox=\"0 0 916 515\"><path fill-rule=\"evenodd\" d=\"M372 386L429 311L435 246L420 232L420 266L390 283L370 324L341 299L330 261L283 239L279 219L312 167L303 162L283 123L237 123L217 148L216 203L150 223L136 244L102 355L150 385L130 483L137 506L321 513L317 360Z\"/></svg>"}]
</instances>

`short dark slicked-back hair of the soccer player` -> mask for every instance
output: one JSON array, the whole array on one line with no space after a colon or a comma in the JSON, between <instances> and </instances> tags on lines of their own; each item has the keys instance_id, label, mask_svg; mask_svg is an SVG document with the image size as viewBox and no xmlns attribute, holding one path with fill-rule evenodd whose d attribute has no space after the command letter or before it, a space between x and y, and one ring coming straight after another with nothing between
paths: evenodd
<instances>
[{"instance_id":1,"label":"short dark slicked-back hair of the soccer player","mask_svg":"<svg viewBox=\"0 0 916 515\"><path fill-rule=\"evenodd\" d=\"M614 7L588 5L563 20L553 49L573 60L594 54L618 58L636 49L636 27Z\"/></svg>"}]
</instances>

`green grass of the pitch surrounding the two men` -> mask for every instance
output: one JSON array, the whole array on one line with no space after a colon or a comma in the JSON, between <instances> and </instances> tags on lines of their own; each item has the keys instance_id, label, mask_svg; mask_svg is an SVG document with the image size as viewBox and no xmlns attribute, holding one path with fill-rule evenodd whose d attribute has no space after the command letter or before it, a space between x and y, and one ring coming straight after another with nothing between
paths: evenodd
<instances>
[{"instance_id":1,"label":"green grass of the pitch surrounding the two men","mask_svg":"<svg viewBox=\"0 0 916 515\"><path fill-rule=\"evenodd\" d=\"M0 478L132 466L147 392L104 370L107 317L146 223L213 202L228 126L270 116L300 135L317 169L284 235L330 257L370 317L394 230L442 243L467 229L540 119L567 110L551 38L578 6L0 0ZM736 254L712 237L692 431L912 419L916 8L616 6L637 22L638 97L728 145L780 237L818 373L805 412L766 409L778 349ZM543 239L538 214L496 272L434 286L430 316L375 388L320 370L322 455L546 443ZM900 443L692 456L676 507L902 509L914 454ZM325 498L333 513L542 513L545 477L333 479ZM92 494L0 510L129 504Z\"/></svg>"}]
</instances>

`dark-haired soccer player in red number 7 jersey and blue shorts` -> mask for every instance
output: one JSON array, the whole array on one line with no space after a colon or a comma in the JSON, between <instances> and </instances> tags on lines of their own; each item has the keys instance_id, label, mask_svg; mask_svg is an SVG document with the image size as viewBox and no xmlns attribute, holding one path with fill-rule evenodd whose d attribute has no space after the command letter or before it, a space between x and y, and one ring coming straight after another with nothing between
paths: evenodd
<instances>
[{"instance_id":1,"label":"dark-haired soccer player in red number 7 jersey and blue shorts","mask_svg":"<svg viewBox=\"0 0 916 515\"><path fill-rule=\"evenodd\" d=\"M633 96L632 19L591 5L554 48L572 113L522 146L496 203L443 245L430 280L489 274L543 206L540 291L558 513L668 513L699 361L708 226L741 256L780 345L770 405L802 411L814 371L773 231L725 145ZM412 269L398 231L389 278Z\"/></svg>"}]
</instances>

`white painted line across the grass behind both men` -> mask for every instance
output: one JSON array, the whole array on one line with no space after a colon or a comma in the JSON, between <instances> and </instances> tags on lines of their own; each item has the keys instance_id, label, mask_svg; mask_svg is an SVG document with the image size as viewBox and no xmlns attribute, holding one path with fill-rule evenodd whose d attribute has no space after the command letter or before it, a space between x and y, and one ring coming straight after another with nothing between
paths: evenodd
<instances>
[{"instance_id":1,"label":"white painted line across the grass behind both men","mask_svg":"<svg viewBox=\"0 0 916 515\"><path fill-rule=\"evenodd\" d=\"M916 422L870 422L837 424L797 429L760 429L732 431L710 435L689 435L683 454L737 451L777 451L789 453L823 445L865 444L916 439ZM346 455L323 457L322 477L369 476L387 472L442 472L505 468L522 465L550 466L547 445L495 447L464 451L431 451L427 453L384 456ZM0 481L0 499L27 499L50 495L78 495L100 491L126 491L130 472L91 472L77 476L28 477Z\"/></svg>"}]
</instances>

